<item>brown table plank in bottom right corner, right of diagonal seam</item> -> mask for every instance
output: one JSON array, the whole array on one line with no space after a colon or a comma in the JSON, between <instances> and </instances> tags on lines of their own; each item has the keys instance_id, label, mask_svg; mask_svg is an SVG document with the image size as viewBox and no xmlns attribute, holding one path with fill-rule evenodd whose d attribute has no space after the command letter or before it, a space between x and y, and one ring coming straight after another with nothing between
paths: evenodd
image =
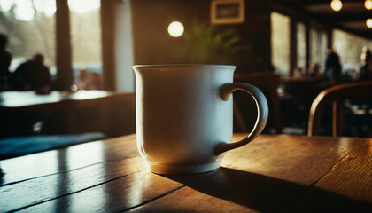
<instances>
[{"instance_id":1,"label":"brown table plank in bottom right corner, right of diagonal seam","mask_svg":"<svg viewBox=\"0 0 372 213\"><path fill-rule=\"evenodd\" d=\"M372 212L372 139L367 140L353 146L329 173L285 210L306 207L308 212Z\"/></svg>"}]
</instances>

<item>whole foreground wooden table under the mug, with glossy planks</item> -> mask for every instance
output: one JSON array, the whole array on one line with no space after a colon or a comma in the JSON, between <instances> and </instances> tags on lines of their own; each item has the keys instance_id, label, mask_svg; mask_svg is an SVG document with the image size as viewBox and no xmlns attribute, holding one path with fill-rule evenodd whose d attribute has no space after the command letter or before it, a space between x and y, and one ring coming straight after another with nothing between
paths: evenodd
<instances>
[{"instance_id":1,"label":"whole foreground wooden table under the mug, with glossy planks","mask_svg":"<svg viewBox=\"0 0 372 213\"><path fill-rule=\"evenodd\" d=\"M372 210L371 138L261 135L185 176L147 172L136 135L0 163L1 212Z\"/></svg>"}]
</instances>

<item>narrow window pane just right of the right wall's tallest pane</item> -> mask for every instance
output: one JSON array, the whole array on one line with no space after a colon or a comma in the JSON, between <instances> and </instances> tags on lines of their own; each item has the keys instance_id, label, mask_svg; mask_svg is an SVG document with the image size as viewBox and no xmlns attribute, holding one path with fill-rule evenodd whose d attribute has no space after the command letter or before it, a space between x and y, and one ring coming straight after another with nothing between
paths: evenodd
<instances>
[{"instance_id":1,"label":"narrow window pane just right of the right wall's tallest pane","mask_svg":"<svg viewBox=\"0 0 372 213\"><path fill-rule=\"evenodd\" d=\"M306 70L306 26L302 22L297 24L297 67Z\"/></svg>"}]
</instances>

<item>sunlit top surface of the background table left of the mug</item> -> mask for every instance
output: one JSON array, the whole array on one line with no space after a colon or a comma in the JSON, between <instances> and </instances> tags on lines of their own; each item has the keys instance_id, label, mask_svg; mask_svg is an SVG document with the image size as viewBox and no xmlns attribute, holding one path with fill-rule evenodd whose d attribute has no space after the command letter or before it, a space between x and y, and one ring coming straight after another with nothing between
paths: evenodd
<instances>
[{"instance_id":1,"label":"sunlit top surface of the background table left of the mug","mask_svg":"<svg viewBox=\"0 0 372 213\"><path fill-rule=\"evenodd\" d=\"M51 91L36 94L35 91L0 92L0 112L45 112L102 103L118 103L134 99L135 93L118 91Z\"/></svg>"}]
</instances>

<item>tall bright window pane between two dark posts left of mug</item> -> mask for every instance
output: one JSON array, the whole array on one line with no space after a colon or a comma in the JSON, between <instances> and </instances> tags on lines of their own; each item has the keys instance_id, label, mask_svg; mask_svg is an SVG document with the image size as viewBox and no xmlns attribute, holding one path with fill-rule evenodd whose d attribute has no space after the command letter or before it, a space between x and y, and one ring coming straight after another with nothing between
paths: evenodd
<instances>
[{"instance_id":1,"label":"tall bright window pane between two dark posts left of mug","mask_svg":"<svg viewBox=\"0 0 372 213\"><path fill-rule=\"evenodd\" d=\"M69 0L74 83L81 90L101 89L100 0Z\"/></svg>"}]
</instances>

